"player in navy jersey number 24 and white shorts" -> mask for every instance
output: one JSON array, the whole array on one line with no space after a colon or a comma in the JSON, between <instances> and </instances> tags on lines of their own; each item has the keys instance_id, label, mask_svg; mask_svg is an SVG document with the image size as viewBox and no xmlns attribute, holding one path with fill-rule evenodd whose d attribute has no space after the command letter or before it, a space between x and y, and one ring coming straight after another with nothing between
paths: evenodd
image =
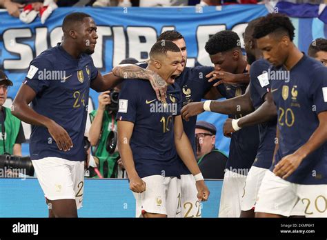
<instances>
[{"instance_id":1,"label":"player in navy jersey number 24 and white shorts","mask_svg":"<svg viewBox=\"0 0 327 240\"><path fill-rule=\"evenodd\" d=\"M98 38L92 17L68 14L62 29L63 42L30 63L12 113L32 125L30 157L49 203L49 217L77 217L83 199L89 88L103 92L112 83L90 57Z\"/></svg>"}]
</instances>

